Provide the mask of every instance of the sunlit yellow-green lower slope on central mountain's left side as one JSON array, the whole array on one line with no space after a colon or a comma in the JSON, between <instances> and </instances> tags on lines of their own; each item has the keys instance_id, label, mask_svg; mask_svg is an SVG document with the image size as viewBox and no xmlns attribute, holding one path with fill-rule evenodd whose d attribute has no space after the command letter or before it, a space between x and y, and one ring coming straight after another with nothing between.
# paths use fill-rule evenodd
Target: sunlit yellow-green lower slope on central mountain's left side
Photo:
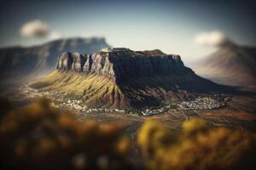
<instances>
[{"instance_id":1,"label":"sunlit yellow-green lower slope on central mountain's left side","mask_svg":"<svg viewBox=\"0 0 256 170\"><path fill-rule=\"evenodd\" d=\"M61 93L63 98L82 99L89 107L129 107L125 95L108 77L80 74L73 71L54 71L49 76L32 82L30 87L49 93Z\"/></svg>"}]
</instances>

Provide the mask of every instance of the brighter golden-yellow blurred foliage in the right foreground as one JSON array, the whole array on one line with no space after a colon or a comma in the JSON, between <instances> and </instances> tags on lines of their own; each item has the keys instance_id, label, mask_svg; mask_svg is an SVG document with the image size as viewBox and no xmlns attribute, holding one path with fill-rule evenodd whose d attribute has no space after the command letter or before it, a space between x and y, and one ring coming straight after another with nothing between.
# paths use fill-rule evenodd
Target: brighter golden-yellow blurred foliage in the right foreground
<instances>
[{"instance_id":1,"label":"brighter golden-yellow blurred foliage in the right foreground","mask_svg":"<svg viewBox=\"0 0 256 170\"><path fill-rule=\"evenodd\" d=\"M175 135L160 122L143 124L137 143L148 169L254 169L255 133L210 129L202 119L183 122L182 127L182 133Z\"/></svg>"}]
</instances>

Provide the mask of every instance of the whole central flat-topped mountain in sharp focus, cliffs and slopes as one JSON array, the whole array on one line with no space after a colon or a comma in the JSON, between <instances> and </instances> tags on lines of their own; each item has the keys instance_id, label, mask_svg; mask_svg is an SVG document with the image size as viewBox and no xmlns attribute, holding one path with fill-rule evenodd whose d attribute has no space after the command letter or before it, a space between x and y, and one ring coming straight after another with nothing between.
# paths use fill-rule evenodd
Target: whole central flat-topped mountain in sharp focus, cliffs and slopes
<instances>
[{"instance_id":1,"label":"whole central flat-topped mountain in sharp focus, cliffs and slopes","mask_svg":"<svg viewBox=\"0 0 256 170\"><path fill-rule=\"evenodd\" d=\"M143 108L165 99L192 99L195 94L228 89L195 75L179 55L129 48L103 48L95 54L65 52L56 71L31 87L81 99L89 107L113 108Z\"/></svg>"}]
</instances>

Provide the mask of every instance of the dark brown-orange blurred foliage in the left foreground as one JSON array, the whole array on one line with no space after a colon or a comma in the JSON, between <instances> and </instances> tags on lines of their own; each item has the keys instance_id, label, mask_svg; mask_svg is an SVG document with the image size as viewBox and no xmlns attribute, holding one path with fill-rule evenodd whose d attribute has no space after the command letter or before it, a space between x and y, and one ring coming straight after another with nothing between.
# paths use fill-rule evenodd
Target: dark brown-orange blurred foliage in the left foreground
<instances>
[{"instance_id":1,"label":"dark brown-orange blurred foliage in the left foreground","mask_svg":"<svg viewBox=\"0 0 256 170\"><path fill-rule=\"evenodd\" d=\"M108 169L133 169L124 126L79 122L72 115L51 107L47 99L9 111L0 120L1 161L17 169L99 169L103 156ZM76 157L79 161L73 161Z\"/></svg>"}]
</instances>

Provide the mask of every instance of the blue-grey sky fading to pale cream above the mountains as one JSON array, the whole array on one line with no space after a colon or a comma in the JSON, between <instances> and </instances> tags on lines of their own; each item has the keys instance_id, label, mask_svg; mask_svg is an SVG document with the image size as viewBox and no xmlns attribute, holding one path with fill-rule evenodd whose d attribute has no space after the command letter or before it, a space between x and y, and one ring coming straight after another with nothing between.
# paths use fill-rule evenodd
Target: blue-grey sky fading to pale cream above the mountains
<instances>
[{"instance_id":1,"label":"blue-grey sky fading to pale cream above the mountains","mask_svg":"<svg viewBox=\"0 0 256 170\"><path fill-rule=\"evenodd\" d=\"M48 37L22 37L20 28L44 22L58 37L106 37L113 47L160 48L185 61L216 48L195 43L204 31L221 31L232 41L256 46L254 8L249 1L14 1L1 0L0 47L31 46Z\"/></svg>"}]
</instances>

